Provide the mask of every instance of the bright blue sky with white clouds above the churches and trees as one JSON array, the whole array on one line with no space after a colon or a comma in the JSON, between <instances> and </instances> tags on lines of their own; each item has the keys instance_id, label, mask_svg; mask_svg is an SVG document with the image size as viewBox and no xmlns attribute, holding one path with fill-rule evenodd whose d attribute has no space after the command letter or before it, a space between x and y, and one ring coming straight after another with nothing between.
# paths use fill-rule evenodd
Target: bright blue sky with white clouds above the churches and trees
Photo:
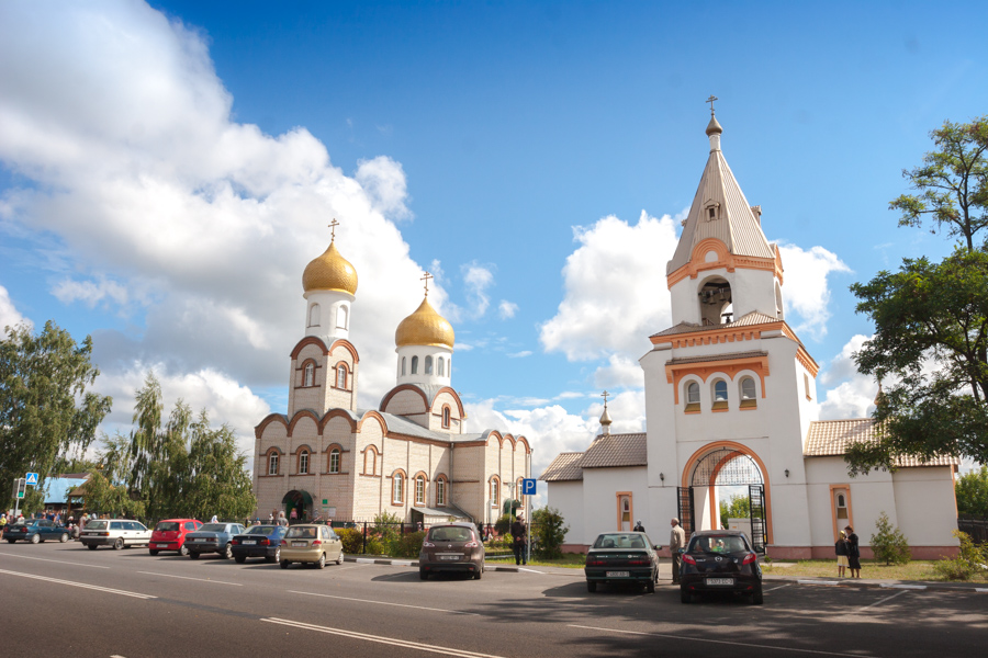
<instances>
[{"instance_id":1,"label":"bright blue sky with white clouds above the churches and trees","mask_svg":"<svg viewBox=\"0 0 988 658\"><path fill-rule=\"evenodd\" d=\"M821 413L860 417L847 286L942 236L888 202L944 120L988 112L977 2L0 5L0 325L92 334L126 428L154 367L252 427L283 411L301 273L358 270L361 404L393 385L418 276L457 331L471 430L582 450L599 393L644 428L637 360L665 261L723 151L783 247Z\"/></svg>"}]
</instances>

